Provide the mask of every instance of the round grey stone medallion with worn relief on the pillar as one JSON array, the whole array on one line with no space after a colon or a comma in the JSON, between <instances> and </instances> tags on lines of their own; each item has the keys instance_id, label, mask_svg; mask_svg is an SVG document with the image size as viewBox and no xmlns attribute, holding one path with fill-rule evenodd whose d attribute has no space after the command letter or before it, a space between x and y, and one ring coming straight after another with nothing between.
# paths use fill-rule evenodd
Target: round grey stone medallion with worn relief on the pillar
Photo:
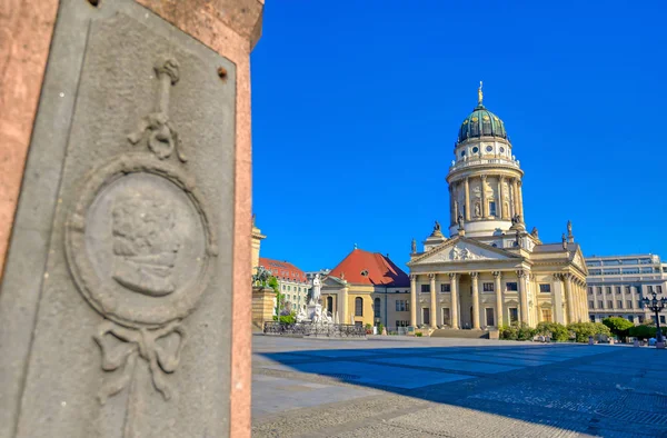
<instances>
[{"instance_id":1,"label":"round grey stone medallion with worn relief on the pillar","mask_svg":"<svg viewBox=\"0 0 667 438\"><path fill-rule=\"evenodd\" d=\"M83 297L133 328L163 326L195 309L215 241L193 182L146 155L91 172L66 229L68 262Z\"/></svg>"}]
</instances>

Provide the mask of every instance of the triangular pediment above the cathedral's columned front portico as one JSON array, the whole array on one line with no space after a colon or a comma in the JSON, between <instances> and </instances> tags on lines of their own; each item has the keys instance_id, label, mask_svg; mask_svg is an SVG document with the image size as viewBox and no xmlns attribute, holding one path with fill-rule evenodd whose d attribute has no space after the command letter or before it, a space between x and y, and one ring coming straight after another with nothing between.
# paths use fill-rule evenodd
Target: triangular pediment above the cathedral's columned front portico
<instances>
[{"instance_id":1,"label":"triangular pediment above the cathedral's columned front portico","mask_svg":"<svg viewBox=\"0 0 667 438\"><path fill-rule=\"evenodd\" d=\"M456 237L416 257L408 266L430 263L461 263L479 260L517 260L520 256L475 239Z\"/></svg>"}]
</instances>

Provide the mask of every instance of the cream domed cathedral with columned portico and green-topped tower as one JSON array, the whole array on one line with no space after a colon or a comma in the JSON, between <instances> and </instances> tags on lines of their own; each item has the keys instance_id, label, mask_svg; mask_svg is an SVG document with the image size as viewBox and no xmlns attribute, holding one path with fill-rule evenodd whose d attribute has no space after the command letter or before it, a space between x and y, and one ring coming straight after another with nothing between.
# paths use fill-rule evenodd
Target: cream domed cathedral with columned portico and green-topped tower
<instances>
[{"instance_id":1,"label":"cream domed cathedral with columned portico and green-topped tower","mask_svg":"<svg viewBox=\"0 0 667 438\"><path fill-rule=\"evenodd\" d=\"M542 243L537 228L526 231L524 171L505 123L484 106L481 82L454 155L449 238L436 221L422 251L412 240L410 325L482 330L587 321L588 271L571 223L558 243Z\"/></svg>"}]
</instances>

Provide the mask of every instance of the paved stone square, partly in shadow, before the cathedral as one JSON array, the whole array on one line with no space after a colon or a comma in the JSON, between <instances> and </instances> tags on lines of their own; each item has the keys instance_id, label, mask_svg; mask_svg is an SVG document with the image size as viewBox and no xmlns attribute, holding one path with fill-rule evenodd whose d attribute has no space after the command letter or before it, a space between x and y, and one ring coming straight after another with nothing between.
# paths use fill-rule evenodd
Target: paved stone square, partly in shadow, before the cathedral
<instances>
[{"instance_id":1,"label":"paved stone square, partly in shadow, before the cathedral","mask_svg":"<svg viewBox=\"0 0 667 438\"><path fill-rule=\"evenodd\" d=\"M666 350L253 337L257 437L667 437Z\"/></svg>"}]
</instances>

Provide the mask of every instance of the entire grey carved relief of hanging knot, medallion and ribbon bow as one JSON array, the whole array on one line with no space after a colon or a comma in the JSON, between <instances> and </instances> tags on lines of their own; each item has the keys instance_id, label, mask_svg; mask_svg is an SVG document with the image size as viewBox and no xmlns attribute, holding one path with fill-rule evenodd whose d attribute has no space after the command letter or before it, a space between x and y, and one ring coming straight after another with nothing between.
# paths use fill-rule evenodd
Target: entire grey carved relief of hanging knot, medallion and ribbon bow
<instances>
[{"instance_id":1,"label":"entire grey carved relief of hanging knot, medallion and ribbon bow","mask_svg":"<svg viewBox=\"0 0 667 438\"><path fill-rule=\"evenodd\" d=\"M136 388L143 387L135 384L143 375L141 362L153 388L166 400L172 397L166 376L177 370L187 340L181 321L195 310L218 253L206 202L169 122L178 62L160 59L155 70L157 111L128 137L133 145L146 140L147 150L91 171L66 226L70 272L104 318L93 335L107 374L99 400L129 386L128 418L135 418ZM172 155L177 159L169 161Z\"/></svg>"}]
</instances>

